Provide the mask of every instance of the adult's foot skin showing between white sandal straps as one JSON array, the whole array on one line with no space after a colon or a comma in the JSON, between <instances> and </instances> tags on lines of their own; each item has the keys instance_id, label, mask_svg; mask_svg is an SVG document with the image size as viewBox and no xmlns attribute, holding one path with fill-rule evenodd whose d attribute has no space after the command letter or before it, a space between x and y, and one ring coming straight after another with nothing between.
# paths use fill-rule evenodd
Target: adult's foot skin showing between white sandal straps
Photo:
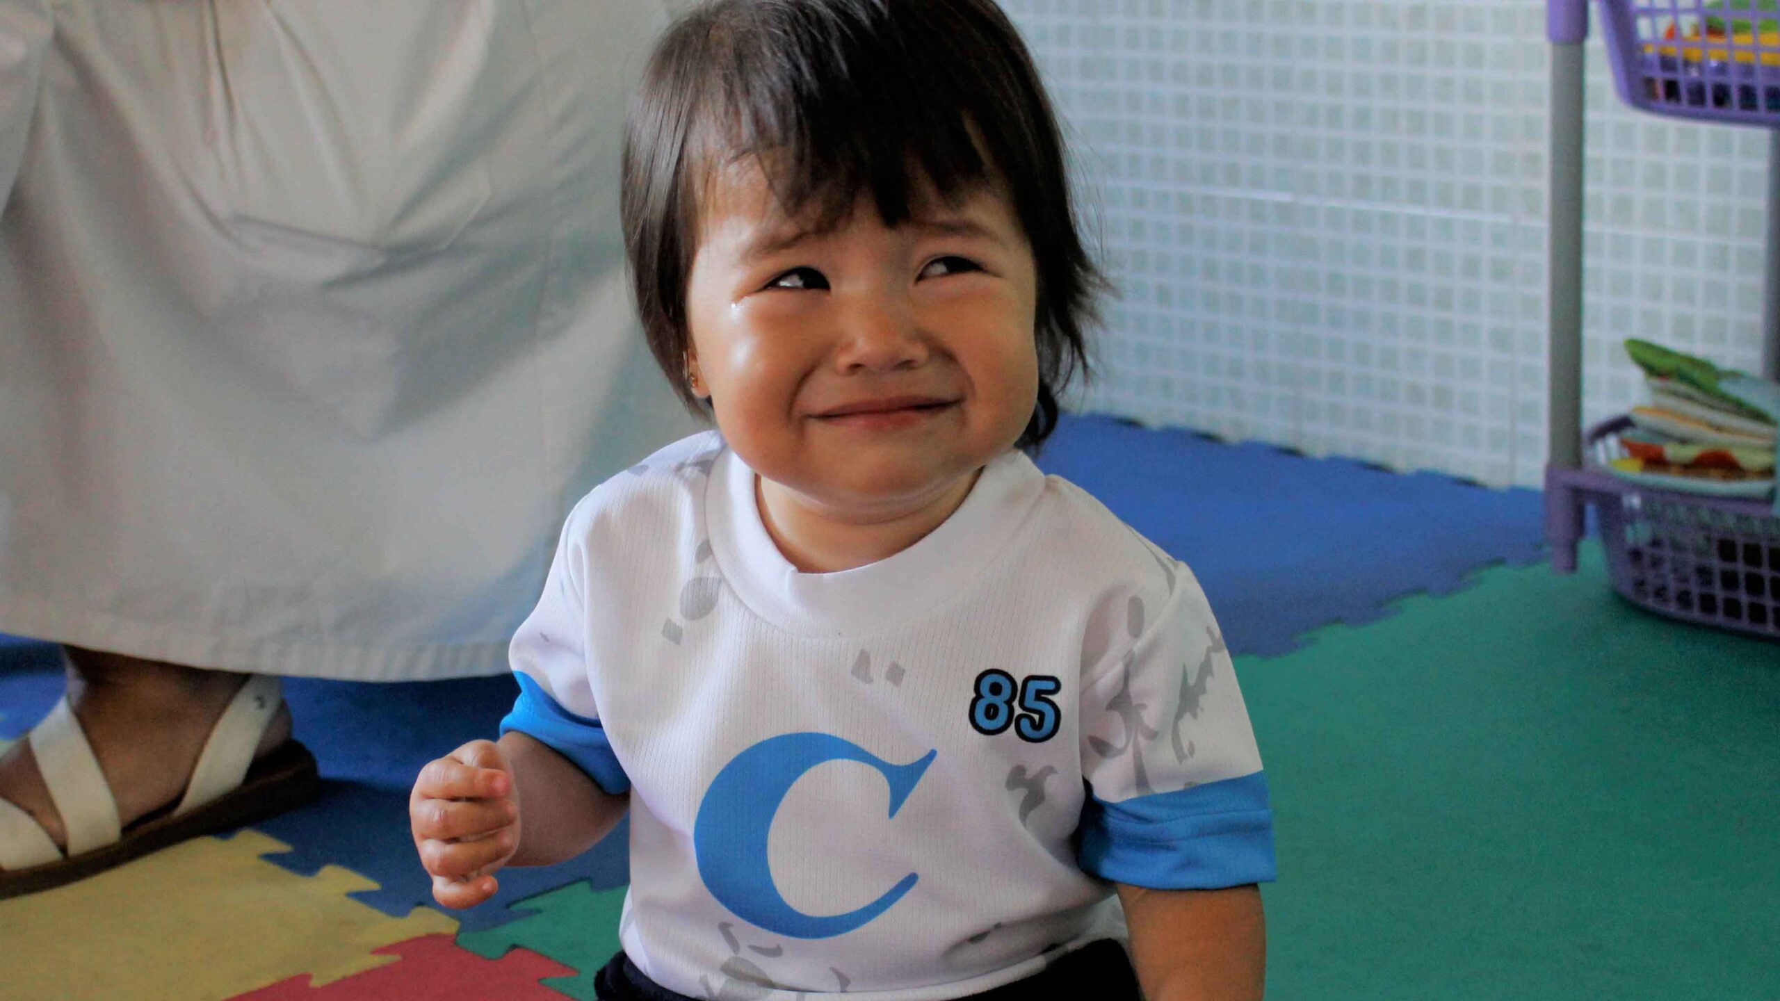
<instances>
[{"instance_id":1,"label":"adult's foot skin showing between white sandal straps","mask_svg":"<svg viewBox=\"0 0 1780 1001\"><path fill-rule=\"evenodd\" d=\"M246 682L242 673L68 647L68 702L117 800L123 826L185 794L210 728ZM288 737L290 707L281 705L255 757ZM0 757L0 800L32 814L66 850L62 818L28 741L18 741Z\"/></svg>"}]
</instances>

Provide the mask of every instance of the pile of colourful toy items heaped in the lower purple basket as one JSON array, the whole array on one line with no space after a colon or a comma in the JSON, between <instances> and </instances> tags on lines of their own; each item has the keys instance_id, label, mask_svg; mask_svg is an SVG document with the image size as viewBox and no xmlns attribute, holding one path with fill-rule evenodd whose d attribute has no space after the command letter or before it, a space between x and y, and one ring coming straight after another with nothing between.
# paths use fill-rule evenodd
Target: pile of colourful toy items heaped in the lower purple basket
<instances>
[{"instance_id":1,"label":"pile of colourful toy items heaped in the lower purple basket","mask_svg":"<svg viewBox=\"0 0 1780 1001\"><path fill-rule=\"evenodd\" d=\"M1607 470L1663 490L1768 497L1775 490L1780 387L1646 340L1627 340L1645 370L1648 406L1627 415L1622 456Z\"/></svg>"}]
</instances>

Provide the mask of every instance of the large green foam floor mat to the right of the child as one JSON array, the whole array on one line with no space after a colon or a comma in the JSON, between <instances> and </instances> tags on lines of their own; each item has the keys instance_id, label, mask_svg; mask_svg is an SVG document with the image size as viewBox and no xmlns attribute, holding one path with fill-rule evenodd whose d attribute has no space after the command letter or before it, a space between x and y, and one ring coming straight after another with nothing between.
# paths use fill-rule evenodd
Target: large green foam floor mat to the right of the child
<instances>
[{"instance_id":1,"label":"large green foam floor mat to the right of the child","mask_svg":"<svg viewBox=\"0 0 1780 1001\"><path fill-rule=\"evenodd\" d=\"M1780 997L1780 645L1497 568L1237 671L1269 997Z\"/></svg>"}]
</instances>

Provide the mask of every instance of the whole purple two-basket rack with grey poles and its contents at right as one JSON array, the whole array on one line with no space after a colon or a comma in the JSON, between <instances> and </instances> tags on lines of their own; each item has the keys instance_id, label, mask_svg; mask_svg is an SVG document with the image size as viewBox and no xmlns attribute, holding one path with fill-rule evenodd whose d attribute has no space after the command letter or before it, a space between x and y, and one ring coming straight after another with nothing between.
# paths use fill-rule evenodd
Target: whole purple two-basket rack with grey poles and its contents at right
<instances>
[{"instance_id":1,"label":"whole purple two-basket rack with grey poles and its contents at right","mask_svg":"<svg viewBox=\"0 0 1780 1001\"><path fill-rule=\"evenodd\" d=\"M1597 0L1620 96L1670 118L1780 130L1780 0ZM1595 509L1607 577L1632 604L1780 639L1780 385L1629 342L1652 403L1581 433L1582 45L1588 0L1547 0L1552 43L1550 465L1556 572ZM1771 139L1780 169L1780 132ZM1780 372L1780 175L1769 189L1764 372ZM1581 449L1581 451L1579 451Z\"/></svg>"}]
</instances>

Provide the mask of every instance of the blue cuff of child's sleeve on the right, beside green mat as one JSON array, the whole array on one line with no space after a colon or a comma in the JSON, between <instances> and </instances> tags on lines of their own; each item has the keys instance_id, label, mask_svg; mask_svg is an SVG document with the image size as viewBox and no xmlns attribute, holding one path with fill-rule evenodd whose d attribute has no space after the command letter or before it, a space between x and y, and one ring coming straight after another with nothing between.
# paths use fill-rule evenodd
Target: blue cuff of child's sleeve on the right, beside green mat
<instances>
[{"instance_id":1,"label":"blue cuff of child's sleeve on the right, beside green mat","mask_svg":"<svg viewBox=\"0 0 1780 1001\"><path fill-rule=\"evenodd\" d=\"M1120 803L1089 796L1079 860L1104 880L1157 891L1271 883L1267 777L1257 771Z\"/></svg>"}]
</instances>

